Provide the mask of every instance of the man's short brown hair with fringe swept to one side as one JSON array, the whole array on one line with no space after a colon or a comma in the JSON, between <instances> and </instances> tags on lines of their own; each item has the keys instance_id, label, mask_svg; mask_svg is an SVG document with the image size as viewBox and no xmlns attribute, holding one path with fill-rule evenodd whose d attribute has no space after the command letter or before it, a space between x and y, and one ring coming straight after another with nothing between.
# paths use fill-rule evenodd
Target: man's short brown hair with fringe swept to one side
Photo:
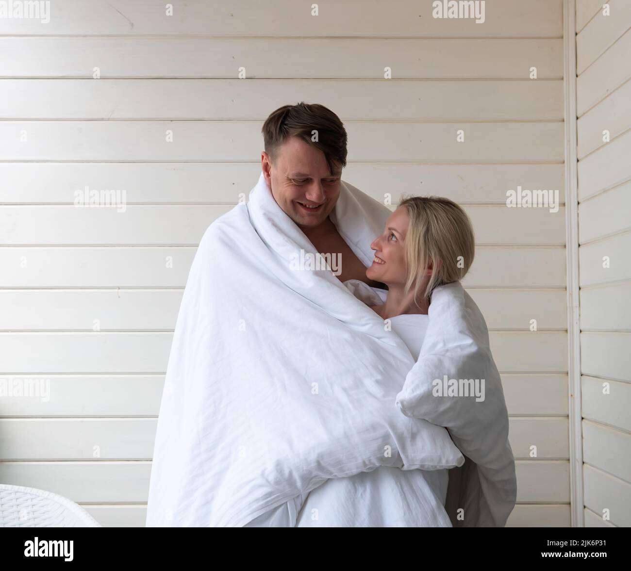
<instances>
[{"instance_id":1,"label":"man's short brown hair with fringe swept to one side","mask_svg":"<svg viewBox=\"0 0 631 571\"><path fill-rule=\"evenodd\" d=\"M317 141L314 141L317 131ZM338 115L319 103L283 105L269 115L261 129L265 152L274 160L276 151L290 137L298 137L324 153L329 172L346 167L346 129Z\"/></svg>"}]
</instances>

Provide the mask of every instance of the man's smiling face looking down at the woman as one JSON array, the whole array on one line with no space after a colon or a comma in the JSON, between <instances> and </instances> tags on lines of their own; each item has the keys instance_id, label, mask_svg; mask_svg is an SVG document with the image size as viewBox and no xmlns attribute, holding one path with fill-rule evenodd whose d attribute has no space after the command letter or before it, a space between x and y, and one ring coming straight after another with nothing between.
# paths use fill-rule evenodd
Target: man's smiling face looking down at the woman
<instances>
[{"instance_id":1,"label":"man's smiling face looking down at the woman","mask_svg":"<svg viewBox=\"0 0 631 571\"><path fill-rule=\"evenodd\" d=\"M331 174L324 153L296 137L287 139L276 154L272 164L263 152L261 165L274 200L299 227L316 227L338 201L341 168Z\"/></svg>"}]
</instances>

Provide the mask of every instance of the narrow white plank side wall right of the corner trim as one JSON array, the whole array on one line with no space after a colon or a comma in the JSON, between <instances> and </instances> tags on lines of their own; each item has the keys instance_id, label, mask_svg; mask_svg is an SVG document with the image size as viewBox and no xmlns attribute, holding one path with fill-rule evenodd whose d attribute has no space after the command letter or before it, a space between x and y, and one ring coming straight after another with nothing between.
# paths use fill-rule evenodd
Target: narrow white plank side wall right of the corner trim
<instances>
[{"instance_id":1,"label":"narrow white plank side wall right of the corner trim","mask_svg":"<svg viewBox=\"0 0 631 571\"><path fill-rule=\"evenodd\" d=\"M631 526L631 3L608 7L577 0L587 527Z\"/></svg>"}]
</instances>

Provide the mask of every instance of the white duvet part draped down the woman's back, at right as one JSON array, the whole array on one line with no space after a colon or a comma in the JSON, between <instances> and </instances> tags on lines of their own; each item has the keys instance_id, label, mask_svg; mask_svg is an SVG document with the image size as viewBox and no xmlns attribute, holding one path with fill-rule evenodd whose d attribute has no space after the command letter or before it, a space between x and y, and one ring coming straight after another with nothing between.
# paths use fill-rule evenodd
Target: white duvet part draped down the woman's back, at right
<instances>
[{"instance_id":1,"label":"white duvet part draped down the woman's back, at right","mask_svg":"<svg viewBox=\"0 0 631 571\"><path fill-rule=\"evenodd\" d=\"M502 527L514 508L517 482L487 324L460 282L435 288L430 301L427 334L396 404L406 416L447 428L473 462L463 468L454 499L463 509L457 526Z\"/></svg>"}]
</instances>

